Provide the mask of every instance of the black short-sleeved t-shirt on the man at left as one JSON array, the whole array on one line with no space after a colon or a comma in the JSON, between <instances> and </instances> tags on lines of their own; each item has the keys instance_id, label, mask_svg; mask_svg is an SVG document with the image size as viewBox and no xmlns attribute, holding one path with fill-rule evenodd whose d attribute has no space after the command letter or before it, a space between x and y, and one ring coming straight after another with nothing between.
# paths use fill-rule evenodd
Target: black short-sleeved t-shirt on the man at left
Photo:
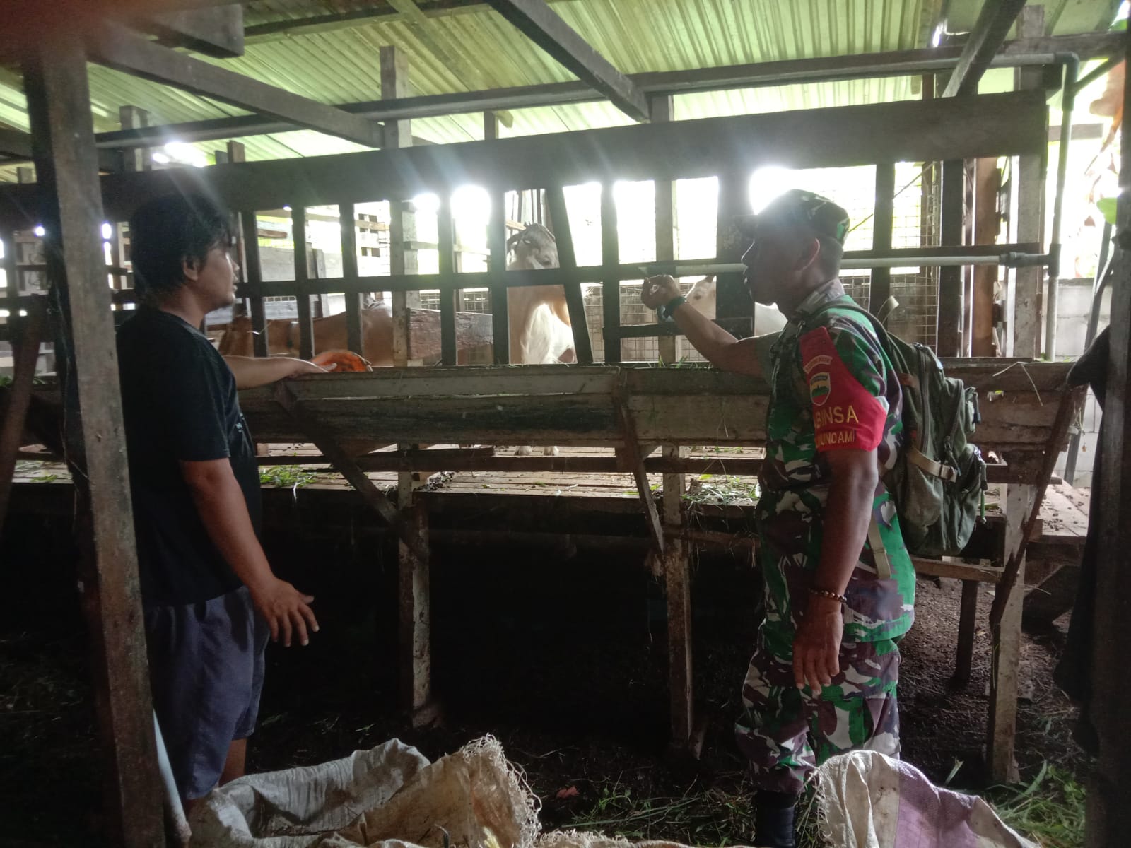
<instances>
[{"instance_id":1,"label":"black short-sleeved t-shirt on the man at left","mask_svg":"<svg viewBox=\"0 0 1131 848\"><path fill-rule=\"evenodd\" d=\"M179 460L228 458L259 533L259 467L235 378L208 339L176 315L143 308L118 330L141 595L193 604L240 586L205 529Z\"/></svg>"}]
</instances>

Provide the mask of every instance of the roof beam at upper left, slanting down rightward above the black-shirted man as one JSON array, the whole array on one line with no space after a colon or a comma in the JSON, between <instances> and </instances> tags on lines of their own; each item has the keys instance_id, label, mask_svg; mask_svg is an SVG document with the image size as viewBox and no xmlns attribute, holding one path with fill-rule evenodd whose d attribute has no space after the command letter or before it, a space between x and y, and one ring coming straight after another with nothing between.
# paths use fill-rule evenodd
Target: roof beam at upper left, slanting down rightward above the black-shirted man
<instances>
[{"instance_id":1,"label":"roof beam at upper left, slanting down rightward above the black-shirted man","mask_svg":"<svg viewBox=\"0 0 1131 848\"><path fill-rule=\"evenodd\" d=\"M143 79L230 103L287 123L318 130L366 147L380 147L379 123L335 106L301 97L258 79L191 59L154 44L118 24L103 24L87 40L90 61Z\"/></svg>"}]
</instances>

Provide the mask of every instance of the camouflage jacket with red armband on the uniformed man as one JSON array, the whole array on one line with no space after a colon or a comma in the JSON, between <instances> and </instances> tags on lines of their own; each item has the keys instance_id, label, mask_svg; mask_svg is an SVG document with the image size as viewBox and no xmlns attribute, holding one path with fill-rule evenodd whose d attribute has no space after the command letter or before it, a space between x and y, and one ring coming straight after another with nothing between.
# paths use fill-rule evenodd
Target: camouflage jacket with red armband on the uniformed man
<instances>
[{"instance_id":1,"label":"camouflage jacket with red armband on the uniformed man","mask_svg":"<svg viewBox=\"0 0 1131 848\"><path fill-rule=\"evenodd\" d=\"M768 643L783 650L797 624L791 598L802 598L804 608L820 561L830 485L824 453L874 448L883 474L896 460L903 431L903 392L872 328L858 314L835 308L806 321L818 306L840 300L851 302L839 280L814 292L762 357L771 389L757 512L766 574L763 631ZM865 543L845 592L846 640L903 635L915 615L915 571L882 483L872 516L892 573L879 578Z\"/></svg>"}]
</instances>

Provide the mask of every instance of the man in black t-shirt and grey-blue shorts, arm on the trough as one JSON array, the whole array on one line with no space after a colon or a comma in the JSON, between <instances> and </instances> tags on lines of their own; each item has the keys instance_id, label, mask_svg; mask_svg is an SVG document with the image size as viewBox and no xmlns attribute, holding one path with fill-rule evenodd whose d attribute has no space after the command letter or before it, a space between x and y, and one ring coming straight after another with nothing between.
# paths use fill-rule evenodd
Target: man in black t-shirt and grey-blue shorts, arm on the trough
<instances>
[{"instance_id":1,"label":"man in black t-shirt and grey-blue shorts, arm on the trough","mask_svg":"<svg viewBox=\"0 0 1131 848\"><path fill-rule=\"evenodd\" d=\"M187 803L240 777L267 638L307 644L313 598L259 544L259 469L238 388L322 369L225 361L197 328L235 301L226 213L162 197L130 219L137 313L118 332L154 709Z\"/></svg>"}]
</instances>

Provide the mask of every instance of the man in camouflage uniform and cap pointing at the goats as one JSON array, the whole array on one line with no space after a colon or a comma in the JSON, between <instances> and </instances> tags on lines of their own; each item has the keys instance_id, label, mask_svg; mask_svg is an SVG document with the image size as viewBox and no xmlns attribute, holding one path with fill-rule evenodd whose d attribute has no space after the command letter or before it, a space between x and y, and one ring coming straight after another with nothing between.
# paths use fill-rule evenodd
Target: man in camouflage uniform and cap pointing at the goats
<instances>
[{"instance_id":1,"label":"man in camouflage uniform and cap pointing at the goats","mask_svg":"<svg viewBox=\"0 0 1131 848\"><path fill-rule=\"evenodd\" d=\"M758 846L793 846L806 776L852 749L899 753L897 643L914 618L915 572L891 495L903 395L867 319L838 279L848 216L788 191L739 222L759 303L789 319L735 340L682 302L671 277L644 301L718 367L770 383L757 509L766 620L736 725L754 785ZM873 552L874 548L874 552Z\"/></svg>"}]
</instances>

